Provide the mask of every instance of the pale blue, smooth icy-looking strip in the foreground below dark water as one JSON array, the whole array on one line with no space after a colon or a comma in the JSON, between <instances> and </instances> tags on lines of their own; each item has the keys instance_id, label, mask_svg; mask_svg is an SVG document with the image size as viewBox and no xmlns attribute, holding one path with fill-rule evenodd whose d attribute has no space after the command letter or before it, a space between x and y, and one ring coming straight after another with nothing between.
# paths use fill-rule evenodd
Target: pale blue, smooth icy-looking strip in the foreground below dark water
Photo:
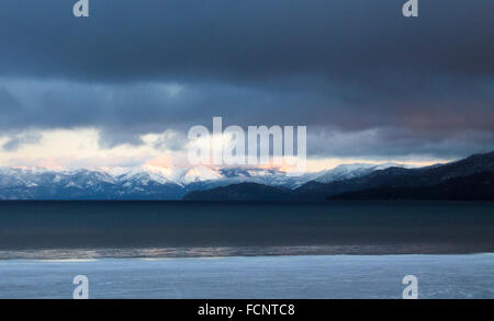
<instances>
[{"instance_id":1,"label":"pale blue, smooth icy-looking strip in the foreground below dark water","mask_svg":"<svg viewBox=\"0 0 494 321\"><path fill-rule=\"evenodd\" d=\"M494 298L494 254L0 261L0 298Z\"/></svg>"}]
</instances>

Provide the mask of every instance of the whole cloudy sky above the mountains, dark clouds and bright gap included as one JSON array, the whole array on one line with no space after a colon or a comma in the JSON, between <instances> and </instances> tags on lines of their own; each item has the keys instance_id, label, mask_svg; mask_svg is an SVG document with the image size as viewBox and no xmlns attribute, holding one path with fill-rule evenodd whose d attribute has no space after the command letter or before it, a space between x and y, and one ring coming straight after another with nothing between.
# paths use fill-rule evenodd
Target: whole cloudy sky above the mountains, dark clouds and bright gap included
<instances>
[{"instance_id":1,"label":"whole cloudy sky above the mountains, dark clouds and bright gap included","mask_svg":"<svg viewBox=\"0 0 494 321\"><path fill-rule=\"evenodd\" d=\"M75 2L2 0L0 165L179 159L213 116L305 125L313 160L494 149L494 1Z\"/></svg>"}]
</instances>

